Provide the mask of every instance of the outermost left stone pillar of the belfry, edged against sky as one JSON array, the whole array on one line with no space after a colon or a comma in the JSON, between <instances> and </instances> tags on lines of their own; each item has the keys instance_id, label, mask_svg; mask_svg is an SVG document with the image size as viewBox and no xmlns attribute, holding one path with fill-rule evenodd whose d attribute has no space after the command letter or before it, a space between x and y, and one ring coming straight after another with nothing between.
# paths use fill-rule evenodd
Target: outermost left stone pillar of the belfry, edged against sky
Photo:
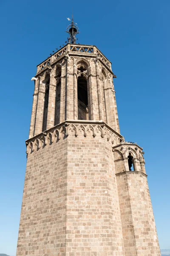
<instances>
[{"instance_id":1,"label":"outermost left stone pillar of the belfry, edged against sky","mask_svg":"<svg viewBox=\"0 0 170 256\"><path fill-rule=\"evenodd\" d=\"M39 87L40 80L37 79L34 83L35 83L35 88L34 88L34 95L33 95L31 123L30 123L30 129L29 129L29 138L34 136L35 117L36 117L37 98L38 98L38 87Z\"/></svg>"}]
</instances>

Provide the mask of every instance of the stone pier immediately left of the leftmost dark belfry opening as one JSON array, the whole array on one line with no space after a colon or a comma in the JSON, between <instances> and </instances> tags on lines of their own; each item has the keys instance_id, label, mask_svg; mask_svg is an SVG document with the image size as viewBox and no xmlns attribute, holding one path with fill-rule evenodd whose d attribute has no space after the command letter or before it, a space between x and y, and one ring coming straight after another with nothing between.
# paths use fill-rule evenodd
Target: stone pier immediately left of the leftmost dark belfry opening
<instances>
[{"instance_id":1,"label":"stone pier immediately left of the leftmost dark belfry opening","mask_svg":"<svg viewBox=\"0 0 170 256\"><path fill-rule=\"evenodd\" d=\"M37 98L37 111L35 120L35 132L34 136L42 132L43 112L44 112L44 96L45 96L45 84L40 81L38 98Z\"/></svg>"}]
</instances>

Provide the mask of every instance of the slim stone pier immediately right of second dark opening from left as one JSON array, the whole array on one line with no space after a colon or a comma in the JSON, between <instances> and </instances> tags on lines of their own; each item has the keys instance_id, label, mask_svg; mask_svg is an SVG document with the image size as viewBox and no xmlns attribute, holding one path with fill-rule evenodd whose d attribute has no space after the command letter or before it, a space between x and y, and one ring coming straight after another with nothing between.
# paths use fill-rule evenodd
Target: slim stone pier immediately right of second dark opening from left
<instances>
[{"instance_id":1,"label":"slim stone pier immediately right of second dark opening from left","mask_svg":"<svg viewBox=\"0 0 170 256\"><path fill-rule=\"evenodd\" d=\"M65 121L65 66L66 63L62 63L61 67L61 92L60 92L60 114L59 122Z\"/></svg>"}]
</instances>

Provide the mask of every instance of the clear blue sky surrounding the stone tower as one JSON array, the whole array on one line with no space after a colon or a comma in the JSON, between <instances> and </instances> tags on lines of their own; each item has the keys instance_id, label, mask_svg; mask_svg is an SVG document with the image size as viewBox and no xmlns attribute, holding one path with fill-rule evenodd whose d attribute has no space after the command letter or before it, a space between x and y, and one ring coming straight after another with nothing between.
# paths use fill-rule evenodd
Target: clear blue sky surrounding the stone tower
<instances>
[{"instance_id":1,"label":"clear blue sky surrounding the stone tower","mask_svg":"<svg viewBox=\"0 0 170 256\"><path fill-rule=\"evenodd\" d=\"M144 148L160 247L169 248L170 0L0 0L0 253L16 253L31 77L66 41L72 6L79 43L112 62L121 134Z\"/></svg>"}]
</instances>

